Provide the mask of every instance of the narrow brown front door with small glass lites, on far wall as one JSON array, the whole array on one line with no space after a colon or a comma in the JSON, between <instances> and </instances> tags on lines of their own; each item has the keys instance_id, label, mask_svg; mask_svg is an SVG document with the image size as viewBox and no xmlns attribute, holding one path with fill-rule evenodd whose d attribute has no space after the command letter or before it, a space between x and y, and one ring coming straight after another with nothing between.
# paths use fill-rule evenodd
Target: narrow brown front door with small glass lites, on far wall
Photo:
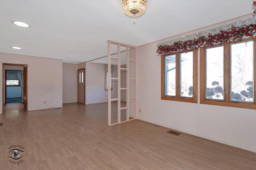
<instances>
[{"instance_id":1,"label":"narrow brown front door with small glass lites, on far wall","mask_svg":"<svg viewBox=\"0 0 256 170\"><path fill-rule=\"evenodd\" d=\"M78 69L78 92L77 92L77 102L80 104L85 104L85 68Z\"/></svg>"}]
</instances>

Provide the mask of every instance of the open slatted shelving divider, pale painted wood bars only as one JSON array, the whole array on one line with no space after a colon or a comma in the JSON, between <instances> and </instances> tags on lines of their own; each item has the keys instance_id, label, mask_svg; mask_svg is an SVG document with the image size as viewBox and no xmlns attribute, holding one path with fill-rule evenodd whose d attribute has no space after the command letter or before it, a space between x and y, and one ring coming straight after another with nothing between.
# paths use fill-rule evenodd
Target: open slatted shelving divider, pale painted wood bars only
<instances>
[{"instance_id":1,"label":"open slatted shelving divider, pale painted wood bars only","mask_svg":"<svg viewBox=\"0 0 256 170\"><path fill-rule=\"evenodd\" d=\"M111 72L108 71L108 87L111 87L111 80L117 80L117 98L111 99L111 89L108 88L108 125L117 125L120 123L124 123L127 121L131 121L134 119L137 119L137 47L132 46L132 45L127 45L123 43L118 43L115 41L110 41L108 40L108 70L111 70L111 59L116 59L117 60L117 78L111 77ZM112 57L111 56L111 44L117 45L117 56L118 57ZM126 68L121 68L121 51L120 47L126 47ZM129 59L130 58L130 49L134 49L134 59ZM135 68L131 68L129 62L134 62L132 66ZM135 77L130 78L130 73L129 70L134 69L135 70ZM126 70L126 88L121 88L121 70ZM130 80L135 81L135 87L134 87L134 94L135 96L129 96L130 95ZM126 107L121 107L121 90L126 90ZM133 102L133 107L134 107L134 117L130 119L130 100L135 100ZM112 101L117 101L117 123L111 123L111 102ZM121 110L126 109L126 120L121 121Z\"/></svg>"}]
</instances>

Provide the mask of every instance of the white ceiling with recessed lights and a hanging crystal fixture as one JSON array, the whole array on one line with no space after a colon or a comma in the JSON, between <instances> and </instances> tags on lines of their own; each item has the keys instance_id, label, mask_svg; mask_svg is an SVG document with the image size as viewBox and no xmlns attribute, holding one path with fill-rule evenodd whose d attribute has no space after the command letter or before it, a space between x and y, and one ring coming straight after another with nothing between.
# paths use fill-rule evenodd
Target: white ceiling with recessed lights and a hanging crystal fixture
<instances>
[{"instance_id":1,"label":"white ceiling with recessed lights and a hanging crystal fixture","mask_svg":"<svg viewBox=\"0 0 256 170\"><path fill-rule=\"evenodd\" d=\"M148 0L134 25L122 11L122 0L0 0L0 52L82 63L106 56L107 40L144 45L250 14L252 2Z\"/></svg>"}]
</instances>

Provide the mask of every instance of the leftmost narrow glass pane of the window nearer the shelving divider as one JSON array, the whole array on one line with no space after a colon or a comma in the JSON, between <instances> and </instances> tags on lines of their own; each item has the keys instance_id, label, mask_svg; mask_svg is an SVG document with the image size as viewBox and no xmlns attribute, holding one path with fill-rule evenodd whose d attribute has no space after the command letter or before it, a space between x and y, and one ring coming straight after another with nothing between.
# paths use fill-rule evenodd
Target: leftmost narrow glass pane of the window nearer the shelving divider
<instances>
[{"instance_id":1,"label":"leftmost narrow glass pane of the window nearer the shelving divider","mask_svg":"<svg viewBox=\"0 0 256 170\"><path fill-rule=\"evenodd\" d=\"M176 55L165 57L165 95L176 96Z\"/></svg>"}]
</instances>

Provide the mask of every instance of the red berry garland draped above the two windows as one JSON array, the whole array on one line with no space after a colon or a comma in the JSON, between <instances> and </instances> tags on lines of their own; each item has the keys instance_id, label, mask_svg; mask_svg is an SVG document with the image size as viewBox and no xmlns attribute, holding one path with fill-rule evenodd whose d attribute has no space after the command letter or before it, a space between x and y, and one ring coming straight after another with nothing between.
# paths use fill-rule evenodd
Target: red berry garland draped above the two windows
<instances>
[{"instance_id":1,"label":"red berry garland draped above the two windows","mask_svg":"<svg viewBox=\"0 0 256 170\"><path fill-rule=\"evenodd\" d=\"M255 2L256 3L256 2ZM225 42L241 41L243 37L253 37L256 33L256 24L242 25L240 27L232 26L226 31L220 31L216 34L209 33L207 37L200 36L198 39L188 41L177 41L173 45L158 45L156 53L168 54L176 51L185 51L198 49L202 46L214 47L214 45Z\"/></svg>"}]
</instances>

